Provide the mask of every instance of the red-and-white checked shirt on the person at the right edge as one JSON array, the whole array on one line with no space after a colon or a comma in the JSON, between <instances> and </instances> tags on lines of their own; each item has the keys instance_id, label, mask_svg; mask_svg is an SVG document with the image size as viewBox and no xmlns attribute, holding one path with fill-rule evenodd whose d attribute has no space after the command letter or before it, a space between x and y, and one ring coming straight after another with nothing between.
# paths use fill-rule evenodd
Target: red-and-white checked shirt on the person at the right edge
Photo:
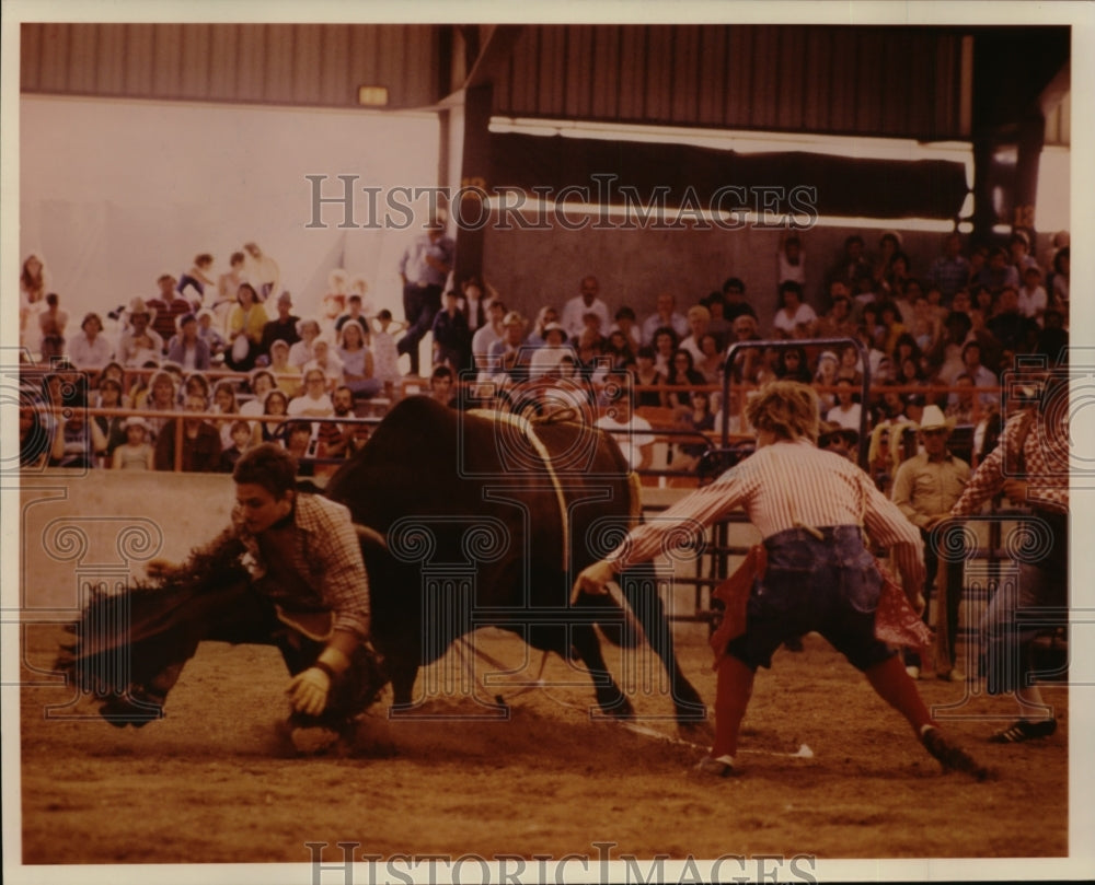
<instances>
[{"instance_id":1,"label":"red-and-white checked shirt on the person at the right edge","mask_svg":"<svg viewBox=\"0 0 1095 885\"><path fill-rule=\"evenodd\" d=\"M1068 409L1057 409L1057 415L1045 412L1016 415L1004 426L1000 444L973 474L961 498L950 509L952 516L977 513L981 504L1004 487L1006 479L1027 481L1027 503L1036 510L1053 513L1069 512L1069 427ZM1023 442L1022 465L1018 453L1023 426L1030 420ZM1047 423L1053 423L1047 428ZM1021 471L1021 466L1023 469Z\"/></svg>"}]
</instances>

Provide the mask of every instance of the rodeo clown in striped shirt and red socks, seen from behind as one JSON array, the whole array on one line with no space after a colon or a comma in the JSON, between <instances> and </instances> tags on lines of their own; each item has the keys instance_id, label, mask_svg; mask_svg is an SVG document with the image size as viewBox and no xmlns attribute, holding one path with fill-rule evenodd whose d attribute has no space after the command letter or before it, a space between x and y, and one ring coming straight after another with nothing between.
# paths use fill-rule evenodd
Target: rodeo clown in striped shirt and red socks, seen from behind
<instances>
[{"instance_id":1,"label":"rodeo clown in striped shirt and red socks, seen from behind","mask_svg":"<svg viewBox=\"0 0 1095 885\"><path fill-rule=\"evenodd\" d=\"M942 733L901 659L875 637L883 577L862 528L889 547L918 612L924 604L919 529L856 465L815 446L818 398L812 388L773 382L746 412L757 431L757 452L661 519L633 528L615 550L578 575L575 594L603 593L618 572L656 556L670 533L692 534L741 506L763 536L766 571L749 590L744 632L729 640L719 660L715 744L696 772L738 772L738 734L757 667L771 666L772 653L785 640L816 630L909 721L945 770L984 779L989 771Z\"/></svg>"}]
</instances>

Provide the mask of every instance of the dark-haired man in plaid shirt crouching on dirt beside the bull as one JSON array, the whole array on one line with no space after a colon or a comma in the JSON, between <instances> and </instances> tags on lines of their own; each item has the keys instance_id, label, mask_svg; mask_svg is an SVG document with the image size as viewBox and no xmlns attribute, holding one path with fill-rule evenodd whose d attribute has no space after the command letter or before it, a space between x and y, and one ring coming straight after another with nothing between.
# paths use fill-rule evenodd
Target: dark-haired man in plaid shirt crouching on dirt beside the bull
<instances>
[{"instance_id":1,"label":"dark-haired man in plaid shirt crouching on dirt beside the bull","mask_svg":"<svg viewBox=\"0 0 1095 885\"><path fill-rule=\"evenodd\" d=\"M349 511L298 493L296 474L281 447L250 450L232 474L232 525L181 566L149 562L160 586L132 596L132 682L102 708L107 720L141 725L162 715L198 643L219 640L280 650L292 674L288 727L299 752L349 736L382 683L369 642L368 577ZM238 580L226 580L233 573ZM165 619L183 629L164 630Z\"/></svg>"}]
</instances>

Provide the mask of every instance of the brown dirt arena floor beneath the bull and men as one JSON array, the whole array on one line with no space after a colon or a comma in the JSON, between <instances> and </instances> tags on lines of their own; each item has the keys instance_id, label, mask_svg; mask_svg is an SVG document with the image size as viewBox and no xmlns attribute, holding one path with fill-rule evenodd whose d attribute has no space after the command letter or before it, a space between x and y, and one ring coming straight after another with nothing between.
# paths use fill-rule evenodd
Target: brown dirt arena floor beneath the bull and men
<instances>
[{"instance_id":1,"label":"brown dirt arena floor beneath the bull and men","mask_svg":"<svg viewBox=\"0 0 1095 885\"><path fill-rule=\"evenodd\" d=\"M920 683L930 703L959 717L953 733L999 770L978 784L943 775L865 680L810 636L803 653L781 650L758 678L739 757L746 773L696 782L685 772L699 748L592 721L586 677L557 657L543 671L545 687L476 688L486 702L498 695L508 704L508 720L489 721L469 719L493 711L446 685L468 662L476 677L489 667L450 652L419 677L419 687L427 678L436 686L422 698L423 718L390 722L378 709L350 754L297 758L278 732L287 678L272 649L203 645L164 720L117 730L87 699L48 684L64 636L57 625L24 629L23 677L37 683L22 690L26 864L304 863L306 843L334 852L339 841L359 843L357 858L596 858L597 842L613 843L614 858L1069 852L1063 688L1047 692L1061 726L1053 737L995 746L984 738L1012 713L1008 701L964 700L964 686ZM687 625L679 637L684 671L710 702L705 628ZM482 630L475 642L517 672L503 678L538 675L540 653L516 638ZM642 656L607 651L618 675L629 655ZM636 669L637 711L661 718L642 724L671 736L665 695L644 688L632 662ZM792 757L803 744L812 757Z\"/></svg>"}]
</instances>

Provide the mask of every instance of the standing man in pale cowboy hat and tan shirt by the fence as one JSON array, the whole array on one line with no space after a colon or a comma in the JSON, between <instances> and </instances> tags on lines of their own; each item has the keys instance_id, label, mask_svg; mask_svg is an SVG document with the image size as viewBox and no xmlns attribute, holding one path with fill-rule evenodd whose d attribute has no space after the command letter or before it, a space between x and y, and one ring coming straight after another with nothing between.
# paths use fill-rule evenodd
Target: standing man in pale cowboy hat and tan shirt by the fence
<instances>
[{"instance_id":1,"label":"standing man in pale cowboy hat and tan shirt by the fence","mask_svg":"<svg viewBox=\"0 0 1095 885\"><path fill-rule=\"evenodd\" d=\"M932 598L932 587L940 570L938 543L931 538L932 529L947 519L950 508L961 497L969 481L969 465L947 451L947 440L954 429L954 419L946 418L938 406L932 404L924 407L920 419L919 438L923 451L913 455L897 468L894 475L894 488L890 496L894 503L908 516L909 521L920 528L924 539L924 622L927 621L927 610ZM950 545L947 545L948 549ZM941 679L963 682L965 675L955 668L954 638L958 630L958 605L961 602L963 562L958 557L948 557L947 594L946 594L946 647L950 652L949 661L936 664L936 675ZM907 650L904 657L909 675L920 677L920 655L914 650Z\"/></svg>"}]
</instances>

